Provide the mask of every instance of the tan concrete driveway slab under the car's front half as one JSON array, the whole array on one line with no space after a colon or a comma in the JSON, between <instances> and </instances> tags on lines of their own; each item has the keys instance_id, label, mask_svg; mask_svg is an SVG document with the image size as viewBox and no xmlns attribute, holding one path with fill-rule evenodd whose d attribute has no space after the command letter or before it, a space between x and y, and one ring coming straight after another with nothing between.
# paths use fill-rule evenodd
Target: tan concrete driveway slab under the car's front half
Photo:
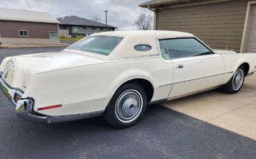
<instances>
[{"instance_id":1,"label":"tan concrete driveway slab under the car's front half","mask_svg":"<svg viewBox=\"0 0 256 159\"><path fill-rule=\"evenodd\" d=\"M161 105L256 140L256 75L235 95L215 90Z\"/></svg>"}]
</instances>

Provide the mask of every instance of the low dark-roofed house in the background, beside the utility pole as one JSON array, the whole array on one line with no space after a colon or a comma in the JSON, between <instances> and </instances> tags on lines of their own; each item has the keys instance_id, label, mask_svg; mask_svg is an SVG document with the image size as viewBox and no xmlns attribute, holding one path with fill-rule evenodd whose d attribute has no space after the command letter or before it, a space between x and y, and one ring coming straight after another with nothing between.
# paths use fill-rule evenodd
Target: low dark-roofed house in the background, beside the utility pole
<instances>
[{"instance_id":1,"label":"low dark-roofed house in the background, beside the utility pole","mask_svg":"<svg viewBox=\"0 0 256 159\"><path fill-rule=\"evenodd\" d=\"M66 37L66 34L72 35L73 37L76 35L88 36L96 32L116 30L115 26L106 26L106 24L77 16L63 17L57 20L60 21L60 37Z\"/></svg>"}]
</instances>

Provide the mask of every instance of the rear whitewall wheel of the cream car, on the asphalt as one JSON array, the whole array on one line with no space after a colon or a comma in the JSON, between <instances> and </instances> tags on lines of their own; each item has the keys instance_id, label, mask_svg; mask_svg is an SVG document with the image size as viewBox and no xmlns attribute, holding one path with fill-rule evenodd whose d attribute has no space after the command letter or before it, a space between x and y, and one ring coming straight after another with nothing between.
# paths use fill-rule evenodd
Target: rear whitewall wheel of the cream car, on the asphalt
<instances>
[{"instance_id":1,"label":"rear whitewall wheel of the cream car, on the asphalt","mask_svg":"<svg viewBox=\"0 0 256 159\"><path fill-rule=\"evenodd\" d=\"M113 127L131 127L140 120L146 107L147 95L143 87L131 82L118 88L104 112L104 118Z\"/></svg>"}]
</instances>

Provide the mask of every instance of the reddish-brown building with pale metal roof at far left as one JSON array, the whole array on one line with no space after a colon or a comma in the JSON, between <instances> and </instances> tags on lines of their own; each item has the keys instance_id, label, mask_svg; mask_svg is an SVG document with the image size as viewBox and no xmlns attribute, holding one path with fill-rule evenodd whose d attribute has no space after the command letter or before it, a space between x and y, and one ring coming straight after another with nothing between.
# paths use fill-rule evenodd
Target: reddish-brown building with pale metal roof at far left
<instances>
[{"instance_id":1,"label":"reddish-brown building with pale metal roof at far left","mask_svg":"<svg viewBox=\"0 0 256 159\"><path fill-rule=\"evenodd\" d=\"M48 12L0 9L2 44L59 44L60 22Z\"/></svg>"}]
</instances>

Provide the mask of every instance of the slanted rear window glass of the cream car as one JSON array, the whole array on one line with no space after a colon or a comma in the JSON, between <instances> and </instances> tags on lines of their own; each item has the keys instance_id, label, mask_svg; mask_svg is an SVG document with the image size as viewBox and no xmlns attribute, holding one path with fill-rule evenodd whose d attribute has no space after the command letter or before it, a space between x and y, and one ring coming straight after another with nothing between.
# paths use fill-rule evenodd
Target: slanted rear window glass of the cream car
<instances>
[{"instance_id":1,"label":"slanted rear window glass of the cream car","mask_svg":"<svg viewBox=\"0 0 256 159\"><path fill-rule=\"evenodd\" d=\"M122 37L88 37L77 44L69 46L68 49L83 50L108 56L122 41Z\"/></svg>"}]
</instances>

